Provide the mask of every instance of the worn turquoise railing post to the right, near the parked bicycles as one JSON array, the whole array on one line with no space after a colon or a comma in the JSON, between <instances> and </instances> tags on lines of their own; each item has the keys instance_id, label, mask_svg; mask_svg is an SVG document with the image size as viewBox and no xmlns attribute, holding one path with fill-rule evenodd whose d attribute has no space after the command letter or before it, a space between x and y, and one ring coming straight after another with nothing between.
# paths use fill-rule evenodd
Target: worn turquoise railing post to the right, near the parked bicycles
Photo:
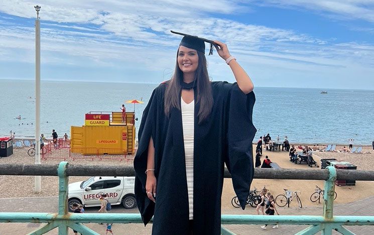
<instances>
[{"instance_id":1,"label":"worn turquoise railing post to the right, near the parked bicycles","mask_svg":"<svg viewBox=\"0 0 374 235\"><path fill-rule=\"evenodd\" d=\"M329 177L325 181L325 193L323 194L323 217L325 220L333 220L336 169L332 166L326 168L329 170Z\"/></svg>"}]
</instances>

